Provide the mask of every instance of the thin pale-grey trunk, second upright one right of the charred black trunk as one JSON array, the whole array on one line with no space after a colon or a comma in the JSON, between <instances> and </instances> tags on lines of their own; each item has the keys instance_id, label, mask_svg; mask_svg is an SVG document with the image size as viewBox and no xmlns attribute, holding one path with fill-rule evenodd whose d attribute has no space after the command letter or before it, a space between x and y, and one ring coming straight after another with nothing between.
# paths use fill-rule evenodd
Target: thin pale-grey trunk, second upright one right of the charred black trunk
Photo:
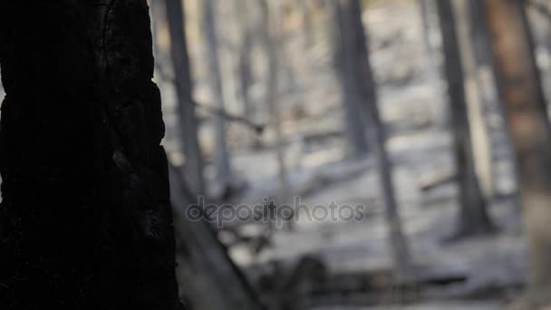
<instances>
[{"instance_id":1,"label":"thin pale-grey trunk, second upright one right of the charred black trunk","mask_svg":"<svg viewBox=\"0 0 551 310\"><path fill-rule=\"evenodd\" d=\"M224 111L225 100L218 59L215 1L217 0L203 0L203 27L208 45L208 69L210 82L212 83L213 100L216 101L218 109ZM229 185L232 179L232 171L226 145L226 121L224 117L219 114L217 114L215 118L216 150L214 154L214 165L217 180L220 182L222 189L224 189Z\"/></svg>"}]
</instances>

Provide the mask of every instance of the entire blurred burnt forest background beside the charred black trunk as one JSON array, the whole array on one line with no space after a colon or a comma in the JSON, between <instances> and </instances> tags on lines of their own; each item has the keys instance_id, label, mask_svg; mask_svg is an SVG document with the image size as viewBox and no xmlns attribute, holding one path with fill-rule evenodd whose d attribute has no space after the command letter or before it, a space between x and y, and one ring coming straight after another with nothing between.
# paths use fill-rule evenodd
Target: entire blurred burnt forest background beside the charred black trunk
<instances>
[{"instance_id":1,"label":"entire blurred burnt forest background beside the charred black trunk","mask_svg":"<svg viewBox=\"0 0 551 310\"><path fill-rule=\"evenodd\" d=\"M190 309L546 304L550 2L150 0L150 14ZM332 203L362 208L323 217Z\"/></svg>"}]
</instances>

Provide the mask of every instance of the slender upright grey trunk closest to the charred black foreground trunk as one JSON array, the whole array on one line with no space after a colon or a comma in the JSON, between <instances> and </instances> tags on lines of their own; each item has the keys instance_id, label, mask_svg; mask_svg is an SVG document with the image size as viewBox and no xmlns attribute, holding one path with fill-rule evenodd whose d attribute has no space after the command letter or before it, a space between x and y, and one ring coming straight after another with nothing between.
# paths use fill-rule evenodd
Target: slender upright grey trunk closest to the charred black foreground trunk
<instances>
[{"instance_id":1,"label":"slender upright grey trunk closest to the charred black foreground trunk","mask_svg":"<svg viewBox=\"0 0 551 310\"><path fill-rule=\"evenodd\" d=\"M180 144L185 163L184 175L189 187L196 195L205 195L203 179L203 158L198 142L198 120L192 97L192 82L189 66L188 44L186 42L185 19L182 0L165 0L169 21L170 55L176 77L174 83L178 95Z\"/></svg>"}]
</instances>

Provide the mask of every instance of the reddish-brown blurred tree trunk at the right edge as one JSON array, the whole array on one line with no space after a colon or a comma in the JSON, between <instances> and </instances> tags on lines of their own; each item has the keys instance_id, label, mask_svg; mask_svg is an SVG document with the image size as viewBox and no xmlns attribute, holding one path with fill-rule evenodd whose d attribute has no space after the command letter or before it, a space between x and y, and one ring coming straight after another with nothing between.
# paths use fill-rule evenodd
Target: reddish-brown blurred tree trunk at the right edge
<instances>
[{"instance_id":1,"label":"reddish-brown blurred tree trunk at the right edge","mask_svg":"<svg viewBox=\"0 0 551 310\"><path fill-rule=\"evenodd\" d=\"M499 91L517 154L530 254L531 301L549 303L551 288L551 133L522 1L485 0Z\"/></svg>"}]
</instances>

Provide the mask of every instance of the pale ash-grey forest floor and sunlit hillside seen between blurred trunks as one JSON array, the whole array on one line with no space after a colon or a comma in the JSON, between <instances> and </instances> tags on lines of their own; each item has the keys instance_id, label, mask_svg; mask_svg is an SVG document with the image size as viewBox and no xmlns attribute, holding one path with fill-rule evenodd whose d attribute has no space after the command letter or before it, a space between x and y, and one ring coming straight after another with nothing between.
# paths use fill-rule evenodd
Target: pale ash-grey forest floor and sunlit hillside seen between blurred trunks
<instances>
[{"instance_id":1,"label":"pale ash-grey forest floor and sunlit hillside seen between blurred trunks","mask_svg":"<svg viewBox=\"0 0 551 310\"><path fill-rule=\"evenodd\" d=\"M262 239L269 226L266 223L237 221L229 226L239 237L222 231L220 239L253 285L261 291L268 287L261 292L268 295L266 298L296 296L302 294L301 290L324 293L296 297L304 305L299 308L503 308L518 295L527 270L526 244L515 204L513 168L503 142L503 125L494 121L490 132L494 147L491 159L494 193L488 208L498 230L489 236L449 242L457 224L458 188L453 181L455 168L449 131L433 121L435 109L447 104L443 100L443 82L430 85L428 81L415 2L377 3L366 11L364 19L379 83L379 107L390 135L387 148L401 221L419 282L416 285L420 287L396 288L386 280L391 255L377 170L371 153L360 160L347 157L343 108L331 64L332 46L327 44L327 29L323 26L315 28L316 44L307 52L300 29L286 31L284 53L306 56L287 56L280 73L283 82L279 121L290 189L285 202L292 203L293 197L300 197L307 210L295 214L292 230L276 228L266 240ZM439 40L435 39L438 35L434 32L432 29L430 37L438 46ZM201 63L200 54L191 52L192 63ZM260 79L256 83L262 82ZM198 81L198 97L206 92L205 85L208 82ZM178 126L174 93L166 83L161 83L160 88L167 122L165 147L169 159L174 161L179 150L175 139ZM255 85L252 88L258 89ZM258 102L259 110L256 121L269 120L271 116L266 115L261 96L254 101ZM228 111L241 111L231 104L228 102ZM209 156L213 151L212 123L206 118L202 124L201 142ZM251 137L242 125L228 125L233 170L247 184L230 201L235 205L263 203L265 198L277 198L281 190L274 130L267 128L257 138L259 148L251 147ZM208 177L208 183L216 184L216 179ZM328 206L333 201L340 207L364 206L362 220L308 220L307 213L311 214L316 205ZM239 238L245 241L237 242ZM310 271L301 271L308 268ZM324 274L324 278L316 274ZM297 281L302 282L296 285Z\"/></svg>"}]
</instances>

